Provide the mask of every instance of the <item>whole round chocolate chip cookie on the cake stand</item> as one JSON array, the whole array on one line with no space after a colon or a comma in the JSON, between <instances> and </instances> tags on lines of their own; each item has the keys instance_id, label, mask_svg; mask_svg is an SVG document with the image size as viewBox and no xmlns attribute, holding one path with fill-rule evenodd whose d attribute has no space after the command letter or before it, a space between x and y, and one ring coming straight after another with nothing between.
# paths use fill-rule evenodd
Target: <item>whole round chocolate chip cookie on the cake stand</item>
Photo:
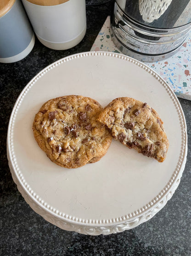
<instances>
[{"instance_id":1,"label":"whole round chocolate chip cookie on the cake stand","mask_svg":"<svg viewBox=\"0 0 191 256\"><path fill-rule=\"evenodd\" d=\"M59 166L77 168L99 161L112 141L105 125L96 120L101 110L97 101L84 96L51 99L35 115L34 137Z\"/></svg>"}]
</instances>

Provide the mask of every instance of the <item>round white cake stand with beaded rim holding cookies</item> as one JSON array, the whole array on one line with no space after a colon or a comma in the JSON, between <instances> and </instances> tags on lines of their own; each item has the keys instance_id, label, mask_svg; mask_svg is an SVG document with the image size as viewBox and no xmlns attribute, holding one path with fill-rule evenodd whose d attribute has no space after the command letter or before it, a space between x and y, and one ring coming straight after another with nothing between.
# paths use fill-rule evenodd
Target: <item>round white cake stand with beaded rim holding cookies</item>
<instances>
[{"instance_id":1,"label":"round white cake stand with beaded rim holding cookies","mask_svg":"<svg viewBox=\"0 0 191 256\"><path fill-rule=\"evenodd\" d=\"M96 163L77 169L52 163L34 140L34 115L45 101L70 94L102 106L120 96L147 102L164 122L166 160L158 163L113 140ZM122 232L152 218L179 185L186 154L184 113L172 89L122 54L75 54L46 67L23 89L8 128L9 165L22 196L49 222L84 234Z\"/></svg>"}]
</instances>

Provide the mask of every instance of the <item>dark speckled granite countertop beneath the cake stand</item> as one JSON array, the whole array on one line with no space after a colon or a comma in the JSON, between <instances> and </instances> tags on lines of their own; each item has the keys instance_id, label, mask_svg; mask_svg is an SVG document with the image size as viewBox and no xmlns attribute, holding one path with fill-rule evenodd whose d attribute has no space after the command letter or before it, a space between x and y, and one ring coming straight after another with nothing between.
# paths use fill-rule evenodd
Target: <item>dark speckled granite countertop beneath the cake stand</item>
<instances>
[{"instance_id":1,"label":"dark speckled granite countertop beneath the cake stand","mask_svg":"<svg viewBox=\"0 0 191 256\"><path fill-rule=\"evenodd\" d=\"M103 0L86 0L87 4ZM107 1L108 2L108 1ZM180 100L188 133L188 155L180 185L151 220L129 231L89 236L64 231L36 214L17 191L6 156L12 107L25 85L62 57L89 51L111 3L87 6L87 32L76 47L55 51L37 39L32 52L17 63L0 64L0 255L191 255L191 101ZM168 107L167 107L168 111Z\"/></svg>"}]
</instances>

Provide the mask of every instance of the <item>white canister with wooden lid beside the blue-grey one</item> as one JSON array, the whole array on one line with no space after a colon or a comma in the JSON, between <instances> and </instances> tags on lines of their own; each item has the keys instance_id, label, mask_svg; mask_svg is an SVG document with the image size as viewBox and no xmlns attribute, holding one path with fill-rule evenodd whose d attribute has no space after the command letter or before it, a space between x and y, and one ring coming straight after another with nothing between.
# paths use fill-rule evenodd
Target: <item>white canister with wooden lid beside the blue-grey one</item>
<instances>
[{"instance_id":1,"label":"white canister with wooden lid beside the blue-grey one","mask_svg":"<svg viewBox=\"0 0 191 256\"><path fill-rule=\"evenodd\" d=\"M55 50L76 46L86 32L85 0L22 0L39 41Z\"/></svg>"}]
</instances>

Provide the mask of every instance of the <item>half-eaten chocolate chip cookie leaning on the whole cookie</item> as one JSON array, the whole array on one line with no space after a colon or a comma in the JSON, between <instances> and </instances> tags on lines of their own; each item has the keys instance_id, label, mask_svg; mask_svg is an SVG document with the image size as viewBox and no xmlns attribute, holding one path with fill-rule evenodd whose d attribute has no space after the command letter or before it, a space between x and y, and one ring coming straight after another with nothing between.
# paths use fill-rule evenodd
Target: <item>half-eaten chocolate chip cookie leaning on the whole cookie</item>
<instances>
[{"instance_id":1,"label":"half-eaten chocolate chip cookie leaning on the whole cookie","mask_svg":"<svg viewBox=\"0 0 191 256\"><path fill-rule=\"evenodd\" d=\"M139 153L163 162L169 141L157 112L141 101L122 97L113 100L97 119L112 136Z\"/></svg>"}]
</instances>

